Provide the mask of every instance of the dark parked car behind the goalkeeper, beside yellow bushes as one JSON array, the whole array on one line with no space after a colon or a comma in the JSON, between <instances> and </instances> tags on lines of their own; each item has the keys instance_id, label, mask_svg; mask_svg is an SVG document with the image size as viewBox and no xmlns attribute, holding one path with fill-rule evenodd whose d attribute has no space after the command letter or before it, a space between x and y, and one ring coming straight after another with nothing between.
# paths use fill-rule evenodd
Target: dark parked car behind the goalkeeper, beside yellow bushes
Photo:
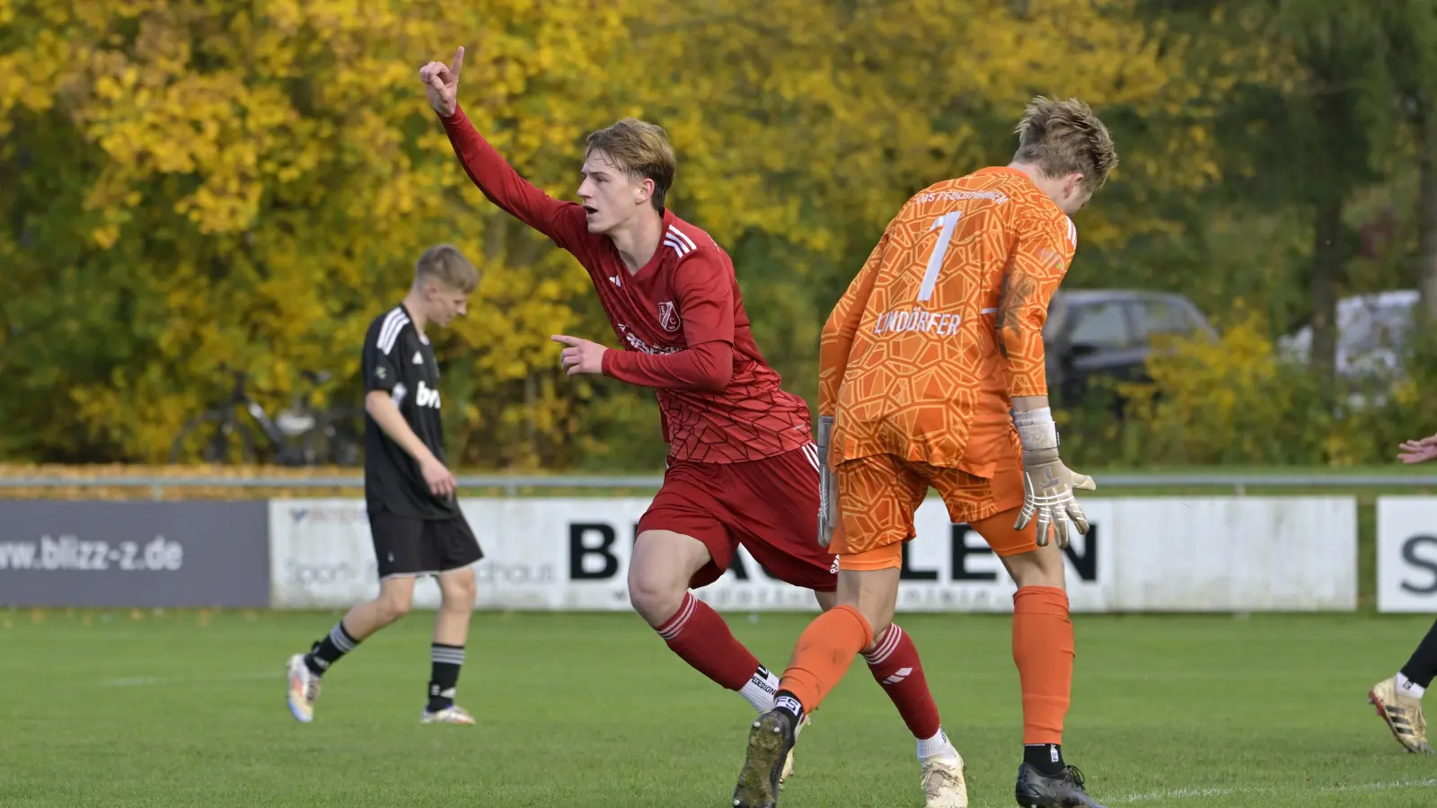
<instances>
[{"instance_id":1,"label":"dark parked car behind the goalkeeper, beside yellow bushes","mask_svg":"<svg viewBox=\"0 0 1437 808\"><path fill-rule=\"evenodd\" d=\"M1096 378L1150 381L1151 338L1167 334L1217 339L1217 329L1183 295L1138 289L1058 292L1043 328L1049 395L1055 404L1076 405Z\"/></svg>"}]
</instances>

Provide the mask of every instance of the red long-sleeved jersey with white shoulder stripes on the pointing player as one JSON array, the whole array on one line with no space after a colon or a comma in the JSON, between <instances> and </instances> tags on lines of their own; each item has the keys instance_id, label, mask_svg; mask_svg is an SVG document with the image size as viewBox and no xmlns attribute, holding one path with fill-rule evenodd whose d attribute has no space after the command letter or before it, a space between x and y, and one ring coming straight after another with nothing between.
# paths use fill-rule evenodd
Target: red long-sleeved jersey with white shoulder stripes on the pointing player
<instances>
[{"instance_id":1,"label":"red long-sleeved jersey with white shoulder stripes on the pointing player","mask_svg":"<svg viewBox=\"0 0 1437 808\"><path fill-rule=\"evenodd\" d=\"M808 403L759 352L733 262L707 233L665 210L662 243L631 273L582 206L520 177L463 109L440 119L474 185L589 272L622 345L605 351L604 374L655 388L671 459L739 463L812 441Z\"/></svg>"}]
</instances>

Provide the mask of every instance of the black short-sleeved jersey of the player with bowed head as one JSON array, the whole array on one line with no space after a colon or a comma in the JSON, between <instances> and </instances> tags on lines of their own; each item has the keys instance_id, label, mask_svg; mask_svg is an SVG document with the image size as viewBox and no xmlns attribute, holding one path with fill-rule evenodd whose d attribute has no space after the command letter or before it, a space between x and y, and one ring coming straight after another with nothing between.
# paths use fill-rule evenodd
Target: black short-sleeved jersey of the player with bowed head
<instances>
[{"instance_id":1,"label":"black short-sleeved jersey of the player with bowed head","mask_svg":"<svg viewBox=\"0 0 1437 808\"><path fill-rule=\"evenodd\" d=\"M414 434L444 462L444 424L440 417L440 367L427 336L414 328L410 312L398 305L376 316L364 338L365 394L382 390L399 408ZM364 489L369 513L415 519L451 519L458 502L430 493L420 463L365 416Z\"/></svg>"}]
</instances>

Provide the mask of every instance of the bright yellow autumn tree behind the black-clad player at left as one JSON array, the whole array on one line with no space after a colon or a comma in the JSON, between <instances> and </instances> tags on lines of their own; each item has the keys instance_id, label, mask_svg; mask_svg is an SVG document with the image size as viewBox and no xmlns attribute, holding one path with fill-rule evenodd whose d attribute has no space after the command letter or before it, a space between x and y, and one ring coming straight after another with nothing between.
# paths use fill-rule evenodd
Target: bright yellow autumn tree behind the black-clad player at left
<instances>
[{"instance_id":1,"label":"bright yellow autumn tree behind the black-clad player at left","mask_svg":"<svg viewBox=\"0 0 1437 808\"><path fill-rule=\"evenodd\" d=\"M6 397L9 423L33 427L24 440L161 459L227 391L221 367L274 405L302 368L329 369L354 401L343 382L369 318L425 246L454 242L486 275L445 357L466 403L457 443L487 443L470 462L527 460L479 436L562 413L527 371L547 364L585 280L510 249L506 223L470 204L417 70L456 30L503 32L466 70L471 111L565 193L572 165L540 145L572 144L604 106L593 47L621 36L618 16L578 0L76 0L13 3L6 20L4 162L22 168L4 204L24 226L0 256L19 299L6 319L23 328L0 361L26 380Z\"/></svg>"}]
</instances>

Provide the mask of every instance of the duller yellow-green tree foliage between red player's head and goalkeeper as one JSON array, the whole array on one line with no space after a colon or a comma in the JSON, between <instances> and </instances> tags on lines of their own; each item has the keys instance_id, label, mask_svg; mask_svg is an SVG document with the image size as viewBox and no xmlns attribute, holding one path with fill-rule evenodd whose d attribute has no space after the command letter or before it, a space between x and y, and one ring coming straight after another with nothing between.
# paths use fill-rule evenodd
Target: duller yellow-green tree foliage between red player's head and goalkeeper
<instances>
[{"instance_id":1,"label":"duller yellow-green tree foliage between red player's head and goalkeeper","mask_svg":"<svg viewBox=\"0 0 1437 808\"><path fill-rule=\"evenodd\" d=\"M625 47L661 81L629 81L627 111L680 144L675 204L734 252L760 348L812 398L819 326L882 226L918 188L1007 162L1033 95L1083 98L1114 128L1122 165L1078 216L1088 249L1171 229L1154 200L1211 181L1207 125L1232 79L1186 75L1187 43L1135 10L657 3Z\"/></svg>"}]
</instances>

